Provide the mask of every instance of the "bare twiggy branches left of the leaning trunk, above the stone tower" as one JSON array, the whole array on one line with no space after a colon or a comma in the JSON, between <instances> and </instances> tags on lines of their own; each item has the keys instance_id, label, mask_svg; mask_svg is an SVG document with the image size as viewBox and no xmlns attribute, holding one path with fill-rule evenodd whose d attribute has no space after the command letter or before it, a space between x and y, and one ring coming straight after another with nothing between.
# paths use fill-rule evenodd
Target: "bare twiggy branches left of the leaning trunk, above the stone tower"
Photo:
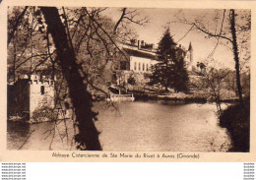
<instances>
[{"instance_id":1,"label":"bare twiggy branches left of the leaning trunk, above the stone tower","mask_svg":"<svg viewBox=\"0 0 256 180\"><path fill-rule=\"evenodd\" d=\"M35 15L35 7L13 7L8 12L8 38L17 25L17 18L23 18L13 32L8 45L8 82L15 82L21 75L36 73L41 67L50 69L46 31L39 24L41 17ZM37 42L40 43L37 43Z\"/></svg>"}]
</instances>

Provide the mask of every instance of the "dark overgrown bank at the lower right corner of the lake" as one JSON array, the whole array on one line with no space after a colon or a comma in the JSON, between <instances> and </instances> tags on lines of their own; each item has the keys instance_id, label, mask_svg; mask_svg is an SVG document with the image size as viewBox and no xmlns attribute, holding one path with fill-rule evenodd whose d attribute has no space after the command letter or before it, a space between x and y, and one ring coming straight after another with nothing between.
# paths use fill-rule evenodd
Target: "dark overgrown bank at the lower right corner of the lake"
<instances>
[{"instance_id":1,"label":"dark overgrown bank at the lower right corner of the lake","mask_svg":"<svg viewBox=\"0 0 256 180\"><path fill-rule=\"evenodd\" d=\"M249 151L250 98L244 98L244 108L237 103L227 107L220 117L220 125L230 133L232 140L230 151Z\"/></svg>"}]
</instances>

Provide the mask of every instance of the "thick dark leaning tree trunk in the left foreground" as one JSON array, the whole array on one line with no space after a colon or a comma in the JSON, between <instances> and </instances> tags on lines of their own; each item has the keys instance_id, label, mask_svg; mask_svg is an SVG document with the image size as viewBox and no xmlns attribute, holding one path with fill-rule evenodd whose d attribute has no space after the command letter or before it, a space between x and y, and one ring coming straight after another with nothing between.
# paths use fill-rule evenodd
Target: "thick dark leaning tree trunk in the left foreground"
<instances>
[{"instance_id":1,"label":"thick dark leaning tree trunk in the left foreground","mask_svg":"<svg viewBox=\"0 0 256 180\"><path fill-rule=\"evenodd\" d=\"M52 35L59 64L67 81L70 97L75 108L76 122L79 129L75 141L79 144L78 148L81 150L101 150L94 123L96 113L92 110L92 96L79 73L75 52L68 43L65 27L61 22L58 10L55 7L41 7L40 9L45 18L47 29Z\"/></svg>"}]
</instances>

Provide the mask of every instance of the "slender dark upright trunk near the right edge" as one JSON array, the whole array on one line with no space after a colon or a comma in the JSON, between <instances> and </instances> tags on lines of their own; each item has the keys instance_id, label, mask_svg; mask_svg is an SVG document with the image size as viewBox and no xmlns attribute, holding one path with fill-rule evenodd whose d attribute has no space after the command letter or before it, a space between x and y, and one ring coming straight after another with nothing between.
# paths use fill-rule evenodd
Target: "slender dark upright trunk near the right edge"
<instances>
[{"instance_id":1,"label":"slender dark upright trunk near the right edge","mask_svg":"<svg viewBox=\"0 0 256 180\"><path fill-rule=\"evenodd\" d=\"M235 15L234 10L230 10L230 30L232 33L232 49L233 49L233 59L235 62L235 73L236 73L236 86L237 92L239 96L240 105L243 106L242 100L242 88L240 83L240 67L239 67L239 56L238 56L238 48L237 48L237 41L236 41L236 30L235 30Z\"/></svg>"}]
</instances>

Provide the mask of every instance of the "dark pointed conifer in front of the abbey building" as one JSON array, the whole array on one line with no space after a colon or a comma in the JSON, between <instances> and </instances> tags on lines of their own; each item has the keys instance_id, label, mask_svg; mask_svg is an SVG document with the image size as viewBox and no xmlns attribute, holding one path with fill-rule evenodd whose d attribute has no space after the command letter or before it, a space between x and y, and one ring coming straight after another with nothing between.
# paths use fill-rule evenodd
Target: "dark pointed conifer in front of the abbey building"
<instances>
[{"instance_id":1,"label":"dark pointed conifer in front of the abbey building","mask_svg":"<svg viewBox=\"0 0 256 180\"><path fill-rule=\"evenodd\" d=\"M187 91L188 74L185 69L183 49L176 47L169 29L165 30L159 42L159 63L153 67L153 75L149 85L160 84L168 91Z\"/></svg>"}]
</instances>

